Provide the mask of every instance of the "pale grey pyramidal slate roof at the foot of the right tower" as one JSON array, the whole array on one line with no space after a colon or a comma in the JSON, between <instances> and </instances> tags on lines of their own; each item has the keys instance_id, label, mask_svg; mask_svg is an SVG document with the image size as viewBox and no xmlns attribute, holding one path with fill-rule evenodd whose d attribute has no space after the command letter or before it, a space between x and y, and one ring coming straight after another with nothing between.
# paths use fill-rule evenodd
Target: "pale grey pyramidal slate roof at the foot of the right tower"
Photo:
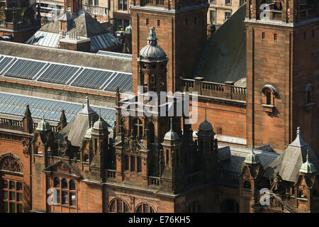
<instances>
[{"instance_id":1,"label":"pale grey pyramidal slate roof at the foot of the right tower","mask_svg":"<svg viewBox=\"0 0 319 227\"><path fill-rule=\"evenodd\" d=\"M278 170L282 179L288 182L296 182L301 165L306 162L307 150L310 162L313 163L316 170L319 170L318 156L310 148L310 145L301 138L301 132L297 131L293 143L265 169L265 176L272 177L274 171Z\"/></svg>"}]
</instances>

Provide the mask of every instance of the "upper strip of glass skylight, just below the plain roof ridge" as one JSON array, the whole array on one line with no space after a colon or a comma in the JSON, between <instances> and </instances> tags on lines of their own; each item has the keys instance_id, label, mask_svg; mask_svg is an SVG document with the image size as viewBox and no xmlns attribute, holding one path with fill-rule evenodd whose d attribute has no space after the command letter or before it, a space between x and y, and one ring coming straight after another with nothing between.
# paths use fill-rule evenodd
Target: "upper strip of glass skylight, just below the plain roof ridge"
<instances>
[{"instance_id":1,"label":"upper strip of glass skylight, just below the plain roof ridge","mask_svg":"<svg viewBox=\"0 0 319 227\"><path fill-rule=\"evenodd\" d=\"M0 75L89 89L131 92L132 74L0 55Z\"/></svg>"}]
</instances>

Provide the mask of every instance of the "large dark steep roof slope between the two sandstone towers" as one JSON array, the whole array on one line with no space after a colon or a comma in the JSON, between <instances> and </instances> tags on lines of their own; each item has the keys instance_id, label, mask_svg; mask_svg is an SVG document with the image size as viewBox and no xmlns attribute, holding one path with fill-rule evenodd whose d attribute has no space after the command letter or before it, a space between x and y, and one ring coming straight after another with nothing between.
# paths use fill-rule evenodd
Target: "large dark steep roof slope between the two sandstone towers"
<instances>
[{"instance_id":1,"label":"large dark steep roof slope between the two sandstone towers","mask_svg":"<svg viewBox=\"0 0 319 227\"><path fill-rule=\"evenodd\" d=\"M246 86L246 4L208 39L195 75L208 82Z\"/></svg>"}]
</instances>

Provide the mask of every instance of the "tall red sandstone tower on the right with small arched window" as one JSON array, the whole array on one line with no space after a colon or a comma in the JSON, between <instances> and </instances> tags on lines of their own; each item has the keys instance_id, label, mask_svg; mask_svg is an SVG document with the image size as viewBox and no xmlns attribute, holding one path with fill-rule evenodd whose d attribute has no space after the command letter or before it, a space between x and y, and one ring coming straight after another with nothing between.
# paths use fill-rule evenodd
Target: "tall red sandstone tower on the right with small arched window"
<instances>
[{"instance_id":1,"label":"tall red sandstone tower on the right with small arched window","mask_svg":"<svg viewBox=\"0 0 319 227\"><path fill-rule=\"evenodd\" d=\"M281 152L298 125L318 150L319 4L247 1L247 145Z\"/></svg>"}]
</instances>

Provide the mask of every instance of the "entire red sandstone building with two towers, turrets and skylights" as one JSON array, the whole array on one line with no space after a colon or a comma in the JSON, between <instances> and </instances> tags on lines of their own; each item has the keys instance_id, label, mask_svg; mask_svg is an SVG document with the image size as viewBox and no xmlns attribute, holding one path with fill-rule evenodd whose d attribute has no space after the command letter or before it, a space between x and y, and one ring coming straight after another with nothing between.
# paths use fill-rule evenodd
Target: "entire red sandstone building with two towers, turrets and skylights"
<instances>
[{"instance_id":1,"label":"entire red sandstone building with two towers, turrets and skylights","mask_svg":"<svg viewBox=\"0 0 319 227\"><path fill-rule=\"evenodd\" d=\"M319 5L256 2L206 41L206 1L131 1L131 60L0 41L0 211L318 212ZM138 86L198 92L198 123L123 116Z\"/></svg>"}]
</instances>

